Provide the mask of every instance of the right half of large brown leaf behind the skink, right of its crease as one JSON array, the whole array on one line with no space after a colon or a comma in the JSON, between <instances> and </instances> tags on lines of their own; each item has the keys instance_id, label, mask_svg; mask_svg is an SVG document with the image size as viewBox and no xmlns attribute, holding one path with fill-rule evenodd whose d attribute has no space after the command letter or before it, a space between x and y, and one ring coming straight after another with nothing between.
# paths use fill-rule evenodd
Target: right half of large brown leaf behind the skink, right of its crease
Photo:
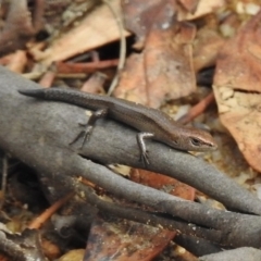
<instances>
[{"instance_id":1,"label":"right half of large brown leaf behind the skink, right of its crease","mask_svg":"<svg viewBox=\"0 0 261 261\"><path fill-rule=\"evenodd\" d=\"M192 40L196 27L174 23L166 30L149 34L145 48L148 104L160 107L165 99L178 99L196 90Z\"/></svg>"}]
</instances>

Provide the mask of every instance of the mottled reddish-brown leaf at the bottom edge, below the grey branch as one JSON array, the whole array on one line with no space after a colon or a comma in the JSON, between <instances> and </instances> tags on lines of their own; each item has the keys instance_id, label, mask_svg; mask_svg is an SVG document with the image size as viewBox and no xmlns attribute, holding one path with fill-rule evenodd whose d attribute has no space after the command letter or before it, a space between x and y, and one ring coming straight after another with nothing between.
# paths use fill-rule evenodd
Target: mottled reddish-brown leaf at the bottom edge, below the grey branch
<instances>
[{"instance_id":1,"label":"mottled reddish-brown leaf at the bottom edge, below the grey branch","mask_svg":"<svg viewBox=\"0 0 261 261\"><path fill-rule=\"evenodd\" d=\"M132 221L97 219L90 228L86 260L150 261L173 238L173 232L162 235L161 231Z\"/></svg>"}]
</instances>

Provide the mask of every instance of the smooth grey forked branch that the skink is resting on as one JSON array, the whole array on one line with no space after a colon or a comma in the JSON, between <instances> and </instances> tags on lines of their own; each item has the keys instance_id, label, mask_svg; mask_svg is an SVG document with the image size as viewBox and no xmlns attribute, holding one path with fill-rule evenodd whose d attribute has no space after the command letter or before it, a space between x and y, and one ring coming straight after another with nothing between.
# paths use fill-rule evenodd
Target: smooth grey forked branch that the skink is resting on
<instances>
[{"instance_id":1,"label":"smooth grey forked branch that the skink is resting on","mask_svg":"<svg viewBox=\"0 0 261 261\"><path fill-rule=\"evenodd\" d=\"M169 213L177 222L182 219L183 224L187 221L199 228L213 228L215 235L210 237L221 245L260 247L260 216L219 211L182 200L135 184L105 166L94 163L122 163L142 167L138 161L136 130L116 122L101 120L83 149L78 149L80 141L70 146L79 132L78 122L87 120L84 110L61 102L35 100L17 92L17 89L38 87L37 84L0 67L0 148L38 172L49 199L53 200L69 189L80 195L83 186L75 177L84 176L120 198ZM148 170L185 182L231 209L261 214L260 200L210 164L160 142L147 141L147 147L151 162ZM92 198L96 206L110 211L107 204L97 200L99 199ZM113 213L116 214L116 211ZM122 213L120 216L124 214ZM171 227L167 224L165 226ZM194 227L189 229L192 231ZM211 229L209 233L211 234ZM197 232L195 235L198 236Z\"/></svg>"}]
</instances>

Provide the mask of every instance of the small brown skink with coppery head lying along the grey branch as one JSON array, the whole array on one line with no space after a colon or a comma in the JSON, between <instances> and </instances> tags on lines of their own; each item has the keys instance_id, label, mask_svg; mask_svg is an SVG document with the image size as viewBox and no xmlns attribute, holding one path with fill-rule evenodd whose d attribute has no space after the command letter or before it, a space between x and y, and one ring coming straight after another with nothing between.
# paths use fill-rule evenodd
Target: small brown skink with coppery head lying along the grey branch
<instances>
[{"instance_id":1,"label":"small brown skink with coppery head lying along the grey branch","mask_svg":"<svg viewBox=\"0 0 261 261\"><path fill-rule=\"evenodd\" d=\"M102 116L108 116L138 129L140 133L137 134L137 144L140 150L140 160L145 164L149 164L145 144L146 138L186 151L208 151L217 147L209 133L179 125L160 110L127 100L63 88L23 89L18 91L25 96L63 101L94 110L95 112L87 123L84 142L88 140L95 122Z\"/></svg>"}]
</instances>

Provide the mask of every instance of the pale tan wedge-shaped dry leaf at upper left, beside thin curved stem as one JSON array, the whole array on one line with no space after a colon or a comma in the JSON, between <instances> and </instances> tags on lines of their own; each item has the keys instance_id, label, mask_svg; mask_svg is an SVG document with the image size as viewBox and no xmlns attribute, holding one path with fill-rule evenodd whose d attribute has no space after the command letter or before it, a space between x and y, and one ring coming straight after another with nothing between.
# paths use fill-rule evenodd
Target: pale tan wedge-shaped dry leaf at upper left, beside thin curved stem
<instances>
[{"instance_id":1,"label":"pale tan wedge-shaped dry leaf at upper left, beside thin curved stem","mask_svg":"<svg viewBox=\"0 0 261 261\"><path fill-rule=\"evenodd\" d=\"M114 12L121 17L120 0L110 1ZM124 32L124 35L129 35ZM34 59L45 64L63 61L76 54L92 50L120 38L116 20L107 4L101 4L88 13L73 29L51 42L44 52L35 53Z\"/></svg>"}]
</instances>

